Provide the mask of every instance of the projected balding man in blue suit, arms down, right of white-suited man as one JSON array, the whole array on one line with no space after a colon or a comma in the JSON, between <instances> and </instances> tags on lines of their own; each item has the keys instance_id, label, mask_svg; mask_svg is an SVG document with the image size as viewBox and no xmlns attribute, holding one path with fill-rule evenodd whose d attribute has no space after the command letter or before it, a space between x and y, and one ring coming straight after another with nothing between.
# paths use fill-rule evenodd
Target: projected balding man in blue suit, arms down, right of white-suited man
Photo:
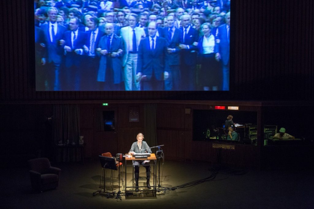
<instances>
[{"instance_id":1,"label":"projected balding man in blue suit, arms down, right of white-suited man","mask_svg":"<svg viewBox=\"0 0 314 209\"><path fill-rule=\"evenodd\" d=\"M137 80L141 80L142 90L163 90L165 53L167 41L156 36L155 22L148 25L148 37L138 46Z\"/></svg>"}]
</instances>

